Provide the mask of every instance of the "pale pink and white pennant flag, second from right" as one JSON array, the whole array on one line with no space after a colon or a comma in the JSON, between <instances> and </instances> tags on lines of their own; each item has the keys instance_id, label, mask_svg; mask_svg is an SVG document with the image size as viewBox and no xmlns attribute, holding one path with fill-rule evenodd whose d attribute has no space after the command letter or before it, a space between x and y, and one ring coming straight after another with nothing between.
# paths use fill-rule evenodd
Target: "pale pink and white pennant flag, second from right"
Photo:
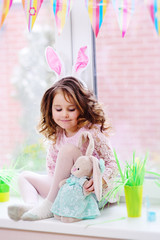
<instances>
[{"instance_id":1,"label":"pale pink and white pennant flag, second from right","mask_svg":"<svg viewBox=\"0 0 160 240\"><path fill-rule=\"evenodd\" d=\"M125 36L129 22L135 11L136 3L137 0L112 0L122 37Z\"/></svg>"}]
</instances>

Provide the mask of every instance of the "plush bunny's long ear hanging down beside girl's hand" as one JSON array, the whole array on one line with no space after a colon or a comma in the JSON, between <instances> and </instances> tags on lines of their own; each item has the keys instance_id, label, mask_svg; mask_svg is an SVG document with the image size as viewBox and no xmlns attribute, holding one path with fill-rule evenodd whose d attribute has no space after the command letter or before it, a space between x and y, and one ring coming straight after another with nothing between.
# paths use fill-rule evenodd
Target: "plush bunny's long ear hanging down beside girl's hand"
<instances>
[{"instance_id":1,"label":"plush bunny's long ear hanging down beside girl's hand","mask_svg":"<svg viewBox=\"0 0 160 240\"><path fill-rule=\"evenodd\" d=\"M94 191L97 197L97 200L100 201L102 198L102 172L99 167L99 161L97 158L91 156L90 160L93 163L93 182L94 182Z\"/></svg>"}]
</instances>

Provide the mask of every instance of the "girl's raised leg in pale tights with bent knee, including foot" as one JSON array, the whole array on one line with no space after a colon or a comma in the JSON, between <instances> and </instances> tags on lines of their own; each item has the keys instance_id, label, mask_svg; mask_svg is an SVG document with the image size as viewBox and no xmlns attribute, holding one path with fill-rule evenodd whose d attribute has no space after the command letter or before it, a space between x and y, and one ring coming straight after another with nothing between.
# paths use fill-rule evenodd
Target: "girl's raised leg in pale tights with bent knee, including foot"
<instances>
[{"instance_id":1,"label":"girl's raised leg in pale tights with bent knee, including foot","mask_svg":"<svg viewBox=\"0 0 160 240\"><path fill-rule=\"evenodd\" d=\"M77 148L74 145L67 144L61 148L57 157L56 168L47 198L40 206L35 207L30 211L26 212L22 216L23 220L32 221L52 217L50 209L57 196L59 190L59 183L61 180L68 178L70 176L73 164L75 163L77 158L81 155L82 154L79 148Z\"/></svg>"}]
</instances>

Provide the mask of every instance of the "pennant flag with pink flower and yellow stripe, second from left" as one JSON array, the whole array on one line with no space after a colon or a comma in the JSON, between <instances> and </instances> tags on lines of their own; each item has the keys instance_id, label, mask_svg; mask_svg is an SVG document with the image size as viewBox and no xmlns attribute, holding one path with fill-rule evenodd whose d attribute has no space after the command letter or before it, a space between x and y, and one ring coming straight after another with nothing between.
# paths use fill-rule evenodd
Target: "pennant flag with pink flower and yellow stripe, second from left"
<instances>
[{"instance_id":1,"label":"pennant flag with pink flower and yellow stripe, second from left","mask_svg":"<svg viewBox=\"0 0 160 240\"><path fill-rule=\"evenodd\" d=\"M22 0L23 8L27 17L28 29L32 30L43 0Z\"/></svg>"}]
</instances>

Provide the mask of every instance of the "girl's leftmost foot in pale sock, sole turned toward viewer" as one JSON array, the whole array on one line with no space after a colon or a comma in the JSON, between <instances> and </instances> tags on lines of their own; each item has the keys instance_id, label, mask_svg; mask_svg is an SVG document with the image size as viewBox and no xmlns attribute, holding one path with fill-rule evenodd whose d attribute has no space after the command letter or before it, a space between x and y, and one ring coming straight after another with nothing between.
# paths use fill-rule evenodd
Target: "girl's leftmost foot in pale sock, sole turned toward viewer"
<instances>
[{"instance_id":1,"label":"girl's leftmost foot in pale sock, sole turned toward viewer","mask_svg":"<svg viewBox=\"0 0 160 240\"><path fill-rule=\"evenodd\" d=\"M22 215L33 208L31 204L13 204L8 206L8 216L15 220L21 220Z\"/></svg>"}]
</instances>

